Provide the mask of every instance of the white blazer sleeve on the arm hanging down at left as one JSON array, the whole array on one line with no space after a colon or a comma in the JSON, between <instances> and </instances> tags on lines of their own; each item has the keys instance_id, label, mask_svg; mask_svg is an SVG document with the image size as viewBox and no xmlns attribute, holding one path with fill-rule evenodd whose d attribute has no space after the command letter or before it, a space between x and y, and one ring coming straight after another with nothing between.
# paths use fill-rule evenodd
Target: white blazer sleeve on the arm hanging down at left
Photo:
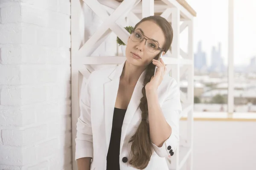
<instances>
[{"instance_id":1,"label":"white blazer sleeve on the arm hanging down at left","mask_svg":"<svg viewBox=\"0 0 256 170\"><path fill-rule=\"evenodd\" d=\"M92 75L92 74L91 74ZM75 160L84 157L93 158L93 134L90 113L90 79L83 80L80 94L80 116L76 124L76 154Z\"/></svg>"}]
</instances>

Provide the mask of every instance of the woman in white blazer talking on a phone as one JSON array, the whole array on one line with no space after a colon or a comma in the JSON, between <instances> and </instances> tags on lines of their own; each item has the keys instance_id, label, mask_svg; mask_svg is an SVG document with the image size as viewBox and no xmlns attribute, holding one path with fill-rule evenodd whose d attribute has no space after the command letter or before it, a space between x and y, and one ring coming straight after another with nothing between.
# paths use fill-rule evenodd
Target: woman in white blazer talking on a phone
<instances>
[{"instance_id":1,"label":"woman in white blazer talking on a phone","mask_svg":"<svg viewBox=\"0 0 256 170\"><path fill-rule=\"evenodd\" d=\"M168 170L165 157L179 140L180 93L156 59L172 37L166 19L145 17L128 39L126 61L90 75L77 123L79 170Z\"/></svg>"}]
</instances>

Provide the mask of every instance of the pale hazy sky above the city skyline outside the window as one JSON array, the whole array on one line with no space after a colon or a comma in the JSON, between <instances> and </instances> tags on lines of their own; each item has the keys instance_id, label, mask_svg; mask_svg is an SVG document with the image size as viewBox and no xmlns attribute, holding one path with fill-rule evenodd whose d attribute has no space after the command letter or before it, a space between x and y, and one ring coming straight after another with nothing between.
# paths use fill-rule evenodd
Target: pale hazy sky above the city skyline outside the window
<instances>
[{"instance_id":1,"label":"pale hazy sky above the city skyline outside the window","mask_svg":"<svg viewBox=\"0 0 256 170\"><path fill-rule=\"evenodd\" d=\"M256 56L256 0L234 1L234 64L248 65ZM228 55L228 0L187 0L197 12L194 18L194 51L202 42L210 65L212 46L218 48L227 65ZM180 37L180 45L185 46L186 37Z\"/></svg>"}]
</instances>

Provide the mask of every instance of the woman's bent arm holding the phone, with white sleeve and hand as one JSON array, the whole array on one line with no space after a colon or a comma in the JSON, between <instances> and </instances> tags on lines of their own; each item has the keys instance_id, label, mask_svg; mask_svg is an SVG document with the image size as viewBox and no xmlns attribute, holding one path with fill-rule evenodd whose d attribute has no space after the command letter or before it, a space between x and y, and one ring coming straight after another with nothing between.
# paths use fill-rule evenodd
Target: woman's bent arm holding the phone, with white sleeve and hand
<instances>
[{"instance_id":1,"label":"woman's bent arm holding the phone, with white sleeve and hand","mask_svg":"<svg viewBox=\"0 0 256 170\"><path fill-rule=\"evenodd\" d=\"M166 88L166 99L160 106L157 88L166 73L163 59L153 59L157 73L145 86L148 101L149 133L152 146L160 157L173 155L179 142L179 115L181 113L180 89L177 82L170 78Z\"/></svg>"}]
</instances>

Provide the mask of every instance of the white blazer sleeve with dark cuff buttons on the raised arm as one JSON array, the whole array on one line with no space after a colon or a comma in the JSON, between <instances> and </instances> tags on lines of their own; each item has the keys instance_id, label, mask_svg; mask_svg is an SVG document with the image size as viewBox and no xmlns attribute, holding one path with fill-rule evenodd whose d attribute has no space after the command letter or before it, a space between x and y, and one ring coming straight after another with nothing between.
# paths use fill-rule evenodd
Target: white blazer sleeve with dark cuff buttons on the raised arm
<instances>
[{"instance_id":1,"label":"white blazer sleeve with dark cuff buttons on the raised arm","mask_svg":"<svg viewBox=\"0 0 256 170\"><path fill-rule=\"evenodd\" d=\"M167 157L174 154L179 143L179 121L182 107L180 102L180 89L175 79L172 79L167 98L163 102L161 109L166 121L172 127L172 133L163 143L163 146L158 147L153 143L152 145L158 156Z\"/></svg>"}]
</instances>

